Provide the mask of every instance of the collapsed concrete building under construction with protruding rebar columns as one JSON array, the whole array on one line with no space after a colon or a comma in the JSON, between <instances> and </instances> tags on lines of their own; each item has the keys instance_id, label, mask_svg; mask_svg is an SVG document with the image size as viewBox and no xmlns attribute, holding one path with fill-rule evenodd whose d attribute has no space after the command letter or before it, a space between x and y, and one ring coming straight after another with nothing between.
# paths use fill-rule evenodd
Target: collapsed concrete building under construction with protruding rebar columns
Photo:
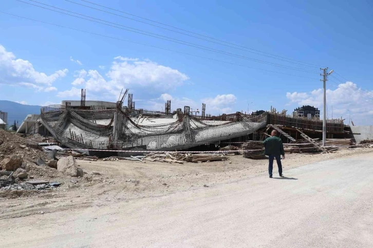
<instances>
[{"instance_id":1,"label":"collapsed concrete building under construction with protruding rebar columns","mask_svg":"<svg viewBox=\"0 0 373 248\"><path fill-rule=\"evenodd\" d=\"M202 144L263 140L272 129L278 130L284 142L302 139L301 133L322 133L323 123L318 118L294 117L286 115L286 110L211 116L202 104L201 115L197 115L199 111L188 106L172 110L171 100L165 103L164 111L145 110L135 108L132 94L124 104L127 92L118 102L110 103L85 101L82 90L80 102L43 107L36 122L56 141L78 150L180 150ZM345 136L345 128L341 119L328 120L328 138Z\"/></svg>"}]
</instances>

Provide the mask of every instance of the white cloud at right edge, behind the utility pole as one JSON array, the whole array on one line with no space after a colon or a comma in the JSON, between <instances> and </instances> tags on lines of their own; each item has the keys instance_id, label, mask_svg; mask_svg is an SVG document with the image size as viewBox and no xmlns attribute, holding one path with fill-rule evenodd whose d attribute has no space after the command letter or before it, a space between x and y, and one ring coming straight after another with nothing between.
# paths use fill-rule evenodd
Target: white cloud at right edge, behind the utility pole
<instances>
[{"instance_id":1,"label":"white cloud at right edge, behind the utility pole","mask_svg":"<svg viewBox=\"0 0 373 248\"><path fill-rule=\"evenodd\" d=\"M311 105L318 107L322 112L323 89L315 89L310 92L287 92L286 97L290 104ZM327 89L327 116L331 119L331 106L333 106L334 119L342 116L348 122L348 110L350 110L351 119L355 124L371 124L373 121L373 112L370 112L373 103L372 97L373 90L362 90L352 82L340 84L334 90Z\"/></svg>"}]
</instances>

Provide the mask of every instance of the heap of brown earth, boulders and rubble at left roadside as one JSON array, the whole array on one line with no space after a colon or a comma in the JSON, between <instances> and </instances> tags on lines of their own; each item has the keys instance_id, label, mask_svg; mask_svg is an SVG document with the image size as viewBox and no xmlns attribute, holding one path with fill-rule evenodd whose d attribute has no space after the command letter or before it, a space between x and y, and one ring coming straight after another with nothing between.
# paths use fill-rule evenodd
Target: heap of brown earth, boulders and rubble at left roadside
<instances>
[{"instance_id":1,"label":"heap of brown earth, boulders and rubble at left roadside","mask_svg":"<svg viewBox=\"0 0 373 248\"><path fill-rule=\"evenodd\" d=\"M83 176L72 156L48 158L35 141L0 129L0 190L53 189Z\"/></svg>"}]
</instances>

